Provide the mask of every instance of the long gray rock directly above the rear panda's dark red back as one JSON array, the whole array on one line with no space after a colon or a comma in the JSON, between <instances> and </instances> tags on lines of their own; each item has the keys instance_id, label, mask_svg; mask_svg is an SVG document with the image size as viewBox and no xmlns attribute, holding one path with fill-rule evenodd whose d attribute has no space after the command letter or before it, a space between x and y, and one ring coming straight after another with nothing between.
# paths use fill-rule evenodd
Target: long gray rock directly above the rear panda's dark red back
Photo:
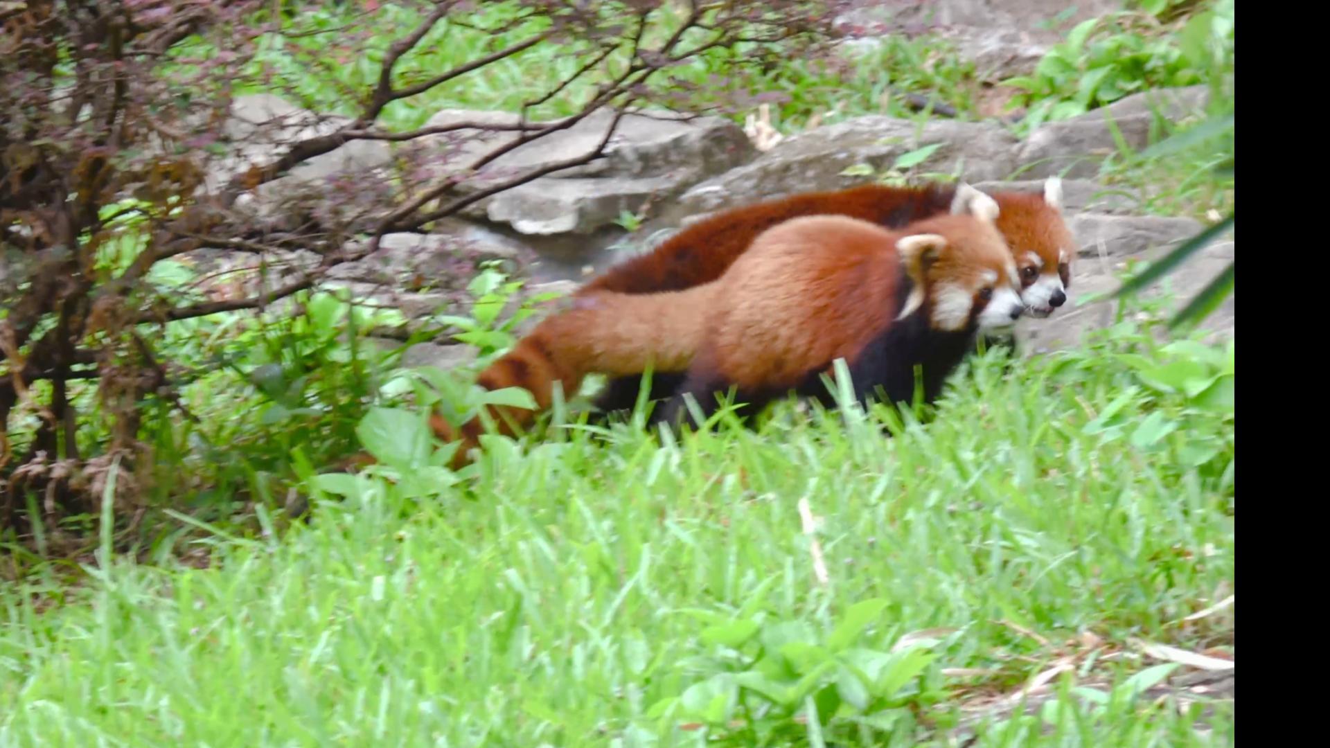
<instances>
[{"instance_id":1,"label":"long gray rock directly above the rear panda's dark red back","mask_svg":"<svg viewBox=\"0 0 1330 748\"><path fill-rule=\"evenodd\" d=\"M916 137L918 132L918 137ZM960 170L967 180L999 180L1016 166L1016 138L992 122L930 121L866 116L825 125L781 141L751 164L684 193L677 218L797 192L843 189L868 177L843 176L847 166L891 166L916 148L940 144L916 172ZM676 220L677 220L676 218Z\"/></svg>"}]
</instances>

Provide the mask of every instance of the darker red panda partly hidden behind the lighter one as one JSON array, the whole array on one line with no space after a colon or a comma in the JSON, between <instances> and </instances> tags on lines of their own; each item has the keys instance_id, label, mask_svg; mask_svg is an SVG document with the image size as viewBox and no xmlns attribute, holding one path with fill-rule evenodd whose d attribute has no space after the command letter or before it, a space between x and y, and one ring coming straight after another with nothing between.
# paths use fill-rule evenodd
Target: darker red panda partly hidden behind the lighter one
<instances>
[{"instance_id":1,"label":"darker red panda partly hidden behind the lighter one","mask_svg":"<svg viewBox=\"0 0 1330 748\"><path fill-rule=\"evenodd\" d=\"M660 246L625 260L589 281L577 295L602 293L649 294L700 286L720 278L763 230L799 216L830 214L862 218L886 228L946 213L960 188L928 185L891 188L864 185L838 192L803 193L725 210L693 224ZM1061 180L1044 182L1044 193L995 192L998 230L1012 250L1021 281L1021 299L1036 318L1048 317L1067 301L1076 241L1063 220ZM613 335L608 326L589 326L579 338ZM660 335L646 339L661 341ZM673 341L670 341L673 343ZM634 345L642 345L636 341ZM637 401L642 371L612 377L597 397L601 411L628 410ZM678 387L682 375L668 370L652 378L650 399L661 399ZM524 386L521 382L511 382Z\"/></svg>"}]
</instances>

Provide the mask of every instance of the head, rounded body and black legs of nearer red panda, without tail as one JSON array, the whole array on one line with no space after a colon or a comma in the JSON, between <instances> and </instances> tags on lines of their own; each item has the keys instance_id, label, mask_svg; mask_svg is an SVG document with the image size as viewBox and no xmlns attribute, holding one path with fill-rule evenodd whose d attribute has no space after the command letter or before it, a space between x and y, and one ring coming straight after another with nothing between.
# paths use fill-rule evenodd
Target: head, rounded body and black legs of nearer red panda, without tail
<instances>
[{"instance_id":1,"label":"head, rounded body and black legs of nearer red panda, without tail","mask_svg":"<svg viewBox=\"0 0 1330 748\"><path fill-rule=\"evenodd\" d=\"M713 410L732 387L749 414L789 391L827 402L821 377L837 358L861 401L876 387L911 399L919 366L931 402L980 330L1009 327L1025 309L1001 234L968 216L908 233L845 216L793 218L709 285L701 345L657 421L677 419L685 395Z\"/></svg>"}]
</instances>

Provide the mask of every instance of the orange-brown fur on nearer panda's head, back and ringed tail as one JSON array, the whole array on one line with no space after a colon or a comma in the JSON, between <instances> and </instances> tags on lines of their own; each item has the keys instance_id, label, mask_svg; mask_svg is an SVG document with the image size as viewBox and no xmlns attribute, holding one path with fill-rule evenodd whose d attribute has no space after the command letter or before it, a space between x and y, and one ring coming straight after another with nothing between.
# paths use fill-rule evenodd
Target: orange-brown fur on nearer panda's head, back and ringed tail
<instances>
[{"instance_id":1,"label":"orange-brown fur on nearer panda's head, back and ringed tail","mask_svg":"<svg viewBox=\"0 0 1330 748\"><path fill-rule=\"evenodd\" d=\"M1011 261L1001 236L970 216L939 216L910 226L911 234L948 240L943 254L915 281L942 278L974 285L994 270L1005 277ZM861 346L891 323L903 280L895 242L903 232L842 216L803 217L773 228L753 242L717 281L680 291L588 293L551 315L479 378L489 390L524 386L540 409L553 401L555 382L576 391L585 374L640 374L648 366L684 371L706 350L706 367L749 390L791 387ZM923 273L923 272L920 272ZM588 330L600 330L588 335ZM705 343L705 346L704 346ZM500 433L531 422L533 413L491 407ZM477 442L479 419L454 430L434 422L444 441L463 439L454 465Z\"/></svg>"}]
</instances>

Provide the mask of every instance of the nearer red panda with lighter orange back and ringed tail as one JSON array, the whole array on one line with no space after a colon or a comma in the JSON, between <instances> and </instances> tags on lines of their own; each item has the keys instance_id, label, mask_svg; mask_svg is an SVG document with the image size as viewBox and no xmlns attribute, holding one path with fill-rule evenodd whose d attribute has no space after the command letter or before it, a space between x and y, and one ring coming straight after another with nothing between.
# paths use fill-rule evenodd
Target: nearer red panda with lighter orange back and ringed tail
<instances>
[{"instance_id":1,"label":"nearer red panda with lighter orange back and ringed tail","mask_svg":"<svg viewBox=\"0 0 1330 748\"><path fill-rule=\"evenodd\" d=\"M940 382L963 350L955 361L947 354L934 363L936 343L950 350L955 339L963 347L976 329L1001 319L1009 326L1024 309L1017 266L992 224L998 204L963 186L951 210L911 225L908 236L846 216L801 217L761 233L716 281L668 293L580 295L493 362L479 383L521 383L545 409L555 382L572 393L588 373L640 374L646 366L686 369L689 393L734 385L750 398L801 387L835 358L850 361L851 373L861 358L883 359L886 369L863 374L892 397L894 371L904 367L912 386L920 357ZM919 314L923 323L915 321ZM896 317L902 321L892 322ZM879 334L887 338L876 342ZM861 355L866 346L871 351ZM512 433L533 414L492 407L489 415ZM481 423L455 431L436 419L435 427L444 441L464 439L460 465Z\"/></svg>"}]
</instances>

